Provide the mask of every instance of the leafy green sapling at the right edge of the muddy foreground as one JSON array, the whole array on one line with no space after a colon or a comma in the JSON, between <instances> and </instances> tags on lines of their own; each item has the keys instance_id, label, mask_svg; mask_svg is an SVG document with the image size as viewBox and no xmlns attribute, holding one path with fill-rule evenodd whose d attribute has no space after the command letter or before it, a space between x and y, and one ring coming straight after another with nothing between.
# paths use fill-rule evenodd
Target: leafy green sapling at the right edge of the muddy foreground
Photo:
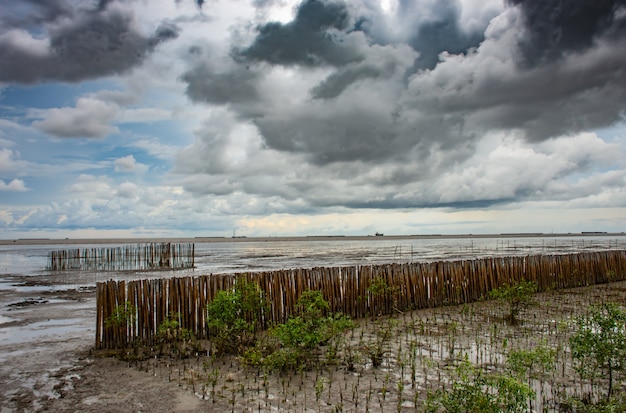
<instances>
[{"instance_id":1,"label":"leafy green sapling at the right edge of the muddy foreground","mask_svg":"<svg viewBox=\"0 0 626 413\"><path fill-rule=\"evenodd\" d=\"M612 303L590 307L576 319L570 348L581 377L608 379L610 400L615 376L626 369L626 311Z\"/></svg>"}]
</instances>

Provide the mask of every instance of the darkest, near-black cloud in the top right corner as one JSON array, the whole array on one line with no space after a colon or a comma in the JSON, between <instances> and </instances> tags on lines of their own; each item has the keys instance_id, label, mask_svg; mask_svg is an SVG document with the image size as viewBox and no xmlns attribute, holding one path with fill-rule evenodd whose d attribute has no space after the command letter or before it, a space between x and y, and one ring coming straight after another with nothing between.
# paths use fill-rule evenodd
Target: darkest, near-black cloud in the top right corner
<instances>
[{"instance_id":1,"label":"darkest, near-black cloud in the top right corner","mask_svg":"<svg viewBox=\"0 0 626 413\"><path fill-rule=\"evenodd\" d=\"M599 37L626 34L626 21L616 18L618 9L626 7L624 0L510 1L524 15L528 35L520 49L531 66L585 50Z\"/></svg>"}]
</instances>

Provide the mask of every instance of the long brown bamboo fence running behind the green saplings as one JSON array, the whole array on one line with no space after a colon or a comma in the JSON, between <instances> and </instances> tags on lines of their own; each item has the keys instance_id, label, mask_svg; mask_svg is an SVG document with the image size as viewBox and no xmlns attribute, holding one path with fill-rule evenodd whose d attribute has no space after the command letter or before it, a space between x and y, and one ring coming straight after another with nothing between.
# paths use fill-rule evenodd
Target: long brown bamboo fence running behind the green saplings
<instances>
[{"instance_id":1,"label":"long brown bamboo fence running behind the green saplings","mask_svg":"<svg viewBox=\"0 0 626 413\"><path fill-rule=\"evenodd\" d=\"M232 289L238 277L263 291L269 307L259 319L268 326L284 322L306 290L320 290L331 311L360 318L469 303L522 280L536 282L538 291L621 281L626 279L626 251L111 280L96 288L96 348L124 348L132 340L154 344L158 326L173 315L195 337L208 338L206 305L219 290ZM384 293L369 289L380 280L388 287ZM116 306L126 303L135 311L126 327L107 326Z\"/></svg>"}]
</instances>

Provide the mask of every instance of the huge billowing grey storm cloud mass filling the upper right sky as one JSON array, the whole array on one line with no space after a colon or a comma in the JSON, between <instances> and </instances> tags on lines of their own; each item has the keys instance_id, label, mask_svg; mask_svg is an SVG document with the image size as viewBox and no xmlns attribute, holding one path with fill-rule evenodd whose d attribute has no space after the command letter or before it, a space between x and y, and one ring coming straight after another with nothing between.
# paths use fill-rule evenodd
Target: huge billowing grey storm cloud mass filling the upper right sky
<instances>
[{"instance_id":1,"label":"huge billowing grey storm cloud mass filling the upper right sky","mask_svg":"<svg viewBox=\"0 0 626 413\"><path fill-rule=\"evenodd\" d=\"M463 4L400 1L383 10L306 0L292 21L258 25L248 45L233 44L221 65L196 58L183 80L194 101L223 105L252 125L260 148L324 168L324 190L310 178L284 183L316 205L476 207L527 198L539 191L528 182L464 197L426 188L444 175L449 185L462 180L449 177L451 168L473 159L487 136L532 145L622 121L625 13L617 2L512 1L483 6L469 24ZM586 14L584 33L574 33ZM203 141L204 133L218 132L199 132Z\"/></svg>"}]
</instances>

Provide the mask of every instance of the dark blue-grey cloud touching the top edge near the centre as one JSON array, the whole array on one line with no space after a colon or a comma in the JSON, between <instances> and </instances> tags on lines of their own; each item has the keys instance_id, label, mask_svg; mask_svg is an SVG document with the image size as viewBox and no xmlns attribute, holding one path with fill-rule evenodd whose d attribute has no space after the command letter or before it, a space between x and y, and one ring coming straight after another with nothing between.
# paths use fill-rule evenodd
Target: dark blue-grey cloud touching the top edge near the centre
<instances>
[{"instance_id":1,"label":"dark blue-grey cloud touching the top edge near the centre","mask_svg":"<svg viewBox=\"0 0 626 413\"><path fill-rule=\"evenodd\" d=\"M235 57L285 66L341 66L357 61L360 53L342 43L349 21L343 3L306 0L294 21L259 27L254 43L235 51Z\"/></svg>"}]
</instances>

